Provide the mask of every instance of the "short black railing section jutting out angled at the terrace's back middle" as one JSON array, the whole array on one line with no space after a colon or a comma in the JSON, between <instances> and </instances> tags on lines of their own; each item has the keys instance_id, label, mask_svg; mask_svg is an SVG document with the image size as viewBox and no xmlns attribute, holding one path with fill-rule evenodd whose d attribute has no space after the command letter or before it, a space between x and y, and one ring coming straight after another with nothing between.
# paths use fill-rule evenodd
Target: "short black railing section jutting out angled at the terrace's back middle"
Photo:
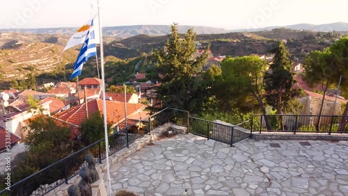
<instances>
[{"instance_id":1,"label":"short black railing section jutting out angled at the terrace's back middle","mask_svg":"<svg viewBox=\"0 0 348 196\"><path fill-rule=\"evenodd\" d=\"M189 132L231 146L251 136L251 122L241 124L221 124L197 117L189 117Z\"/></svg>"}]
</instances>

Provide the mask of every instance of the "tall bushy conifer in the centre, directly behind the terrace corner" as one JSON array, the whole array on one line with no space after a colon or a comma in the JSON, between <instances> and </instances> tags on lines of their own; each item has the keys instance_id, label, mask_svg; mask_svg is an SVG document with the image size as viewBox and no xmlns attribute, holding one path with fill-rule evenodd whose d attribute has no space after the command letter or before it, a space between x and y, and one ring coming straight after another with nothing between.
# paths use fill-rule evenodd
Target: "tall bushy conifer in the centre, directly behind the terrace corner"
<instances>
[{"instance_id":1,"label":"tall bushy conifer in the centre, directly behind the terrace corner","mask_svg":"<svg viewBox=\"0 0 348 196\"><path fill-rule=\"evenodd\" d=\"M165 107L180 108L198 113L207 98L205 83L196 77L207 63L207 51L194 57L196 33L192 28L180 38L177 24L171 26L166 47L155 53L158 70L164 75L158 89L159 99Z\"/></svg>"}]
</instances>

